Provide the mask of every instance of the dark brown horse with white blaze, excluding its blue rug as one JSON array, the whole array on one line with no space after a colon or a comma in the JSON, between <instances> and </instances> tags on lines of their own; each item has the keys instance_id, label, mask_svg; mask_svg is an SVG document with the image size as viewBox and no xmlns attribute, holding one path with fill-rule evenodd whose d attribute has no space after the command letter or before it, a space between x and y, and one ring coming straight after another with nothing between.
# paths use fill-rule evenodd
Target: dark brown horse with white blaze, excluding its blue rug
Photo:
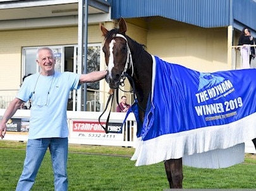
<instances>
[{"instance_id":1,"label":"dark brown horse with white blaze, excluding its blue rug","mask_svg":"<svg viewBox=\"0 0 256 191\"><path fill-rule=\"evenodd\" d=\"M152 55L145 47L126 35L126 21L119 20L119 28L107 30L100 23L105 38L102 50L107 66L106 81L115 90L127 77L138 101L137 123L143 123L150 93L152 93ZM256 139L253 139L256 148ZM164 161L170 188L182 188L183 160L169 158Z\"/></svg>"}]
</instances>

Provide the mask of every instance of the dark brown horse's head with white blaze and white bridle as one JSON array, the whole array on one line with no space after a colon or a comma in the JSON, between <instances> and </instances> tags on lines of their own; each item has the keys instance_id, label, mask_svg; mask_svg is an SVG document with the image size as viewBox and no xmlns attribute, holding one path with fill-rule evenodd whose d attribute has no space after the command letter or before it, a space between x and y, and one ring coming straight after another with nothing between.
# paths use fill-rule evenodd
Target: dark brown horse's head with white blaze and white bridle
<instances>
[{"instance_id":1,"label":"dark brown horse's head with white blaze and white bridle","mask_svg":"<svg viewBox=\"0 0 256 191\"><path fill-rule=\"evenodd\" d=\"M105 37L102 48L107 65L106 81L110 88L118 88L120 81L125 78L125 72L132 66L130 48L125 35L126 23L123 18L119 21L119 29L107 30L101 25Z\"/></svg>"}]
</instances>

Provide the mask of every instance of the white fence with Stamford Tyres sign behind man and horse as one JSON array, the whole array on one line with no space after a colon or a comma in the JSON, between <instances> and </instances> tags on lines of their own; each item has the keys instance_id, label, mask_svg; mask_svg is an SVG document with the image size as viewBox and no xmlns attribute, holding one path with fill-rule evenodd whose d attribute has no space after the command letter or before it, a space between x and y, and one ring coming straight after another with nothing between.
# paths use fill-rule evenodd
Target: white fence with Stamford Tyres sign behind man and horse
<instances>
[{"instance_id":1,"label":"white fence with Stamford Tyres sign behind man and horse","mask_svg":"<svg viewBox=\"0 0 256 191\"><path fill-rule=\"evenodd\" d=\"M0 109L2 117L4 110ZM69 142L73 144L90 144L105 146L130 146L135 148L137 140L137 122L133 113L128 116L125 125L123 120L126 113L111 112L109 119L110 132L108 134L99 125L101 112L71 112L68 111ZM101 118L106 123L107 114ZM29 130L30 110L18 110L12 120L8 122L9 131L5 140L27 141ZM16 130L16 131L15 131Z\"/></svg>"}]
</instances>

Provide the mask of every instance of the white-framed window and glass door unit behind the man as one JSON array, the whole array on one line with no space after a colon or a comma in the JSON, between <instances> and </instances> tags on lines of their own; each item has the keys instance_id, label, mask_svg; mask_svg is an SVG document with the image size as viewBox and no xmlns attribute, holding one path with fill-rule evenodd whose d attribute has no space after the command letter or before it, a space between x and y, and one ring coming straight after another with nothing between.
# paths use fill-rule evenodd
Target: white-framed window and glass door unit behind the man
<instances>
[{"instance_id":1,"label":"white-framed window and glass door unit behind the man","mask_svg":"<svg viewBox=\"0 0 256 191\"><path fill-rule=\"evenodd\" d=\"M56 57L55 70L59 72L70 71L77 72L77 45L54 46L49 47L53 50ZM38 47L23 48L23 72L21 78L27 74L34 74L40 71L36 62L36 54ZM90 44L87 49L87 72L99 71L100 69L100 52L101 44ZM82 90L82 95L84 95ZM78 101L80 100L80 101ZM78 98L76 91L71 91L68 100L68 110L76 110L77 104L82 103L83 96ZM99 103L99 81L95 83L87 83L87 102L88 111L99 111L101 105Z\"/></svg>"}]
</instances>

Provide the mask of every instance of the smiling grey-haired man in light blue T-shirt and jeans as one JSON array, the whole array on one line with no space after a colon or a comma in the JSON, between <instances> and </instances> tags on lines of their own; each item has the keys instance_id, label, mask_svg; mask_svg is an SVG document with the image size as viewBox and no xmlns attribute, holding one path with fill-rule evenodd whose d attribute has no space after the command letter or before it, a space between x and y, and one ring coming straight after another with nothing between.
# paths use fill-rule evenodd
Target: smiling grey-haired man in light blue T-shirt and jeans
<instances>
[{"instance_id":1,"label":"smiling grey-haired man in light blue T-shirt and jeans","mask_svg":"<svg viewBox=\"0 0 256 191\"><path fill-rule=\"evenodd\" d=\"M71 90L82 83L103 79L106 71L88 74L54 71L55 57L51 49L37 51L37 64L41 72L28 76L21 85L16 98L11 101L0 124L0 137L6 134L6 122L23 102L31 100L30 130L26 158L17 191L30 190L47 148L51 153L55 190L68 190L68 124L66 107Z\"/></svg>"}]
</instances>

